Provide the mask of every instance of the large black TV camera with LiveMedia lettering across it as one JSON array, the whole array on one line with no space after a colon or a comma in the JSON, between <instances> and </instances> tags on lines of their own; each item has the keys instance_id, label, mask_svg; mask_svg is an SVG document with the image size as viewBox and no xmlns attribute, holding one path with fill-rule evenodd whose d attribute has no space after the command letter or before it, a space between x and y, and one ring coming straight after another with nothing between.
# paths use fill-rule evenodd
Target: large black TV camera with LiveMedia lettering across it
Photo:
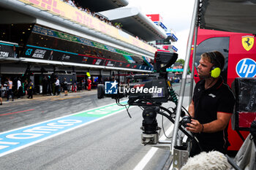
<instances>
[{"instance_id":1,"label":"large black TV camera with LiveMedia lettering across it","mask_svg":"<svg viewBox=\"0 0 256 170\"><path fill-rule=\"evenodd\" d=\"M177 53L166 53L157 51L154 55L154 71L151 74L133 74L127 76L129 80L139 82L132 82L128 85L120 85L118 82L105 82L105 85L97 86L98 98L113 98L120 106L138 106L143 109L143 123L141 134L142 144L157 144L159 141L159 128L157 124L157 114L167 117L172 123L175 122L176 105L178 99L172 84L167 80L166 69L173 65L178 58ZM114 88L116 87L116 88ZM127 97L127 105L120 104L121 98ZM162 103L172 101L175 104L174 108L162 107ZM183 108L181 116L184 116ZM128 112L128 109L127 109ZM129 112L128 112L129 115ZM129 115L129 117L131 117ZM179 129L187 136L190 136L181 125L185 127L187 122L181 121ZM191 138L191 136L190 136Z\"/></svg>"}]
</instances>

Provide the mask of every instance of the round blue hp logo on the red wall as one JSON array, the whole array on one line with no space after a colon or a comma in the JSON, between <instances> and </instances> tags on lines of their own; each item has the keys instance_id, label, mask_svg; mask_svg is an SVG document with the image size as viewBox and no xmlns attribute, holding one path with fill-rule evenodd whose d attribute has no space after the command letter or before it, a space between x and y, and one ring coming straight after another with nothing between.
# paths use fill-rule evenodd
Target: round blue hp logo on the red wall
<instances>
[{"instance_id":1,"label":"round blue hp logo on the red wall","mask_svg":"<svg viewBox=\"0 0 256 170\"><path fill-rule=\"evenodd\" d=\"M239 77L255 77L256 62L251 58L244 58L236 65L236 73Z\"/></svg>"}]
</instances>

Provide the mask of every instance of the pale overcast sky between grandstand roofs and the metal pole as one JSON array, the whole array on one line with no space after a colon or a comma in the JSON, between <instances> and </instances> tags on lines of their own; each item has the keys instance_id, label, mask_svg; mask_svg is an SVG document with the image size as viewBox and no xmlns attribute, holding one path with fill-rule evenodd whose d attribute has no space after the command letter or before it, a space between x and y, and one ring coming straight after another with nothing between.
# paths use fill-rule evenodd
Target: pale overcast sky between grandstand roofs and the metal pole
<instances>
[{"instance_id":1,"label":"pale overcast sky between grandstand roofs and the metal pole","mask_svg":"<svg viewBox=\"0 0 256 170\"><path fill-rule=\"evenodd\" d=\"M167 28L178 38L178 58L185 58L189 28L195 0L127 0L129 6L138 7L144 14L159 14Z\"/></svg>"}]
</instances>

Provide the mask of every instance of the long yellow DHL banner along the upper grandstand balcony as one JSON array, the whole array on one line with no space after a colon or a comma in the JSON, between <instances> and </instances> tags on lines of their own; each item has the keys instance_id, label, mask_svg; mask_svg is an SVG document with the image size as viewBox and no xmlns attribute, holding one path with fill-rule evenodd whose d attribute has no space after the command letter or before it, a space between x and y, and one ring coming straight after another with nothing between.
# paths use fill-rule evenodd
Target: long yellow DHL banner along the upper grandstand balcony
<instances>
[{"instance_id":1,"label":"long yellow DHL banner along the upper grandstand balcony","mask_svg":"<svg viewBox=\"0 0 256 170\"><path fill-rule=\"evenodd\" d=\"M82 26L86 26L87 28L94 29L96 31L100 31L103 34L108 36L112 36L113 38L120 39L121 41L127 42L131 45L135 45L137 47L142 48L143 50L147 50L151 53L155 53L156 48L148 45L139 39L136 39L134 36L130 36L126 34L120 34L120 30L116 27L108 25L108 23L104 23L98 18L94 18L86 12L80 11L79 9L70 6L69 4L64 3L59 0L18 0L22 1L27 5L31 5L33 7L37 7L44 11L50 12L53 15L59 15L61 18L65 18L67 20L71 20L72 22L78 23Z\"/></svg>"}]
</instances>

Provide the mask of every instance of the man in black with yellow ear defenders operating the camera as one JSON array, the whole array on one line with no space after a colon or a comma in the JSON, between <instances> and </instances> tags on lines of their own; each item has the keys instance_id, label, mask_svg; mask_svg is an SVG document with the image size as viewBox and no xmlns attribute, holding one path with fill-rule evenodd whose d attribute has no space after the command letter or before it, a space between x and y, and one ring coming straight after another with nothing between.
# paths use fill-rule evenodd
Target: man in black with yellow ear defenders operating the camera
<instances>
[{"instance_id":1,"label":"man in black with yellow ear defenders operating the camera","mask_svg":"<svg viewBox=\"0 0 256 170\"><path fill-rule=\"evenodd\" d=\"M232 91L219 75L225 58L218 51L203 53L199 63L197 71L200 81L195 85L192 102L189 104L192 121L187 123L187 130L195 133L199 144L192 141L189 156L211 150L225 153L230 145L227 125L235 104Z\"/></svg>"}]
</instances>

